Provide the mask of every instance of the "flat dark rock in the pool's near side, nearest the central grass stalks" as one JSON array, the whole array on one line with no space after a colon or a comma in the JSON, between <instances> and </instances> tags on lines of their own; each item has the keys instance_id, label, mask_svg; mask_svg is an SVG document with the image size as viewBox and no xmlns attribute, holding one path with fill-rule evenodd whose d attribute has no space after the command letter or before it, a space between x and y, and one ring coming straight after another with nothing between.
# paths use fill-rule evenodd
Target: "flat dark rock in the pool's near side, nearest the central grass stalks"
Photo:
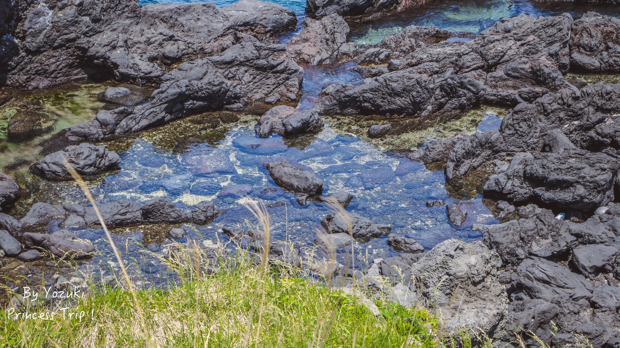
<instances>
[{"instance_id":1,"label":"flat dark rock in the pool's near side, nearest the central grass stalks","mask_svg":"<svg viewBox=\"0 0 620 348\"><path fill-rule=\"evenodd\" d=\"M381 237L392 230L388 225L375 224L354 212L346 216L340 213L329 214L321 220L321 225L330 233L353 233L353 237L363 239Z\"/></svg>"}]
</instances>

